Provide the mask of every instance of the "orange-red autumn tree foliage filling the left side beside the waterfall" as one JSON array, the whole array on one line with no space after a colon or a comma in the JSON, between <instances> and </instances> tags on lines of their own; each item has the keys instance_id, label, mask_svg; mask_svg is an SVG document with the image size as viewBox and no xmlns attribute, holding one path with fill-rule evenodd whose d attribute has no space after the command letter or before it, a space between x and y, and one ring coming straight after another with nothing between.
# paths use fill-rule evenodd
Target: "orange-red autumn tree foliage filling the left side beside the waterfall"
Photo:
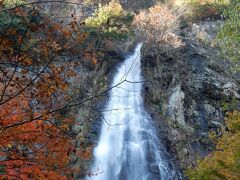
<instances>
[{"instance_id":1,"label":"orange-red autumn tree foliage filling the left side beside the waterfall","mask_svg":"<svg viewBox=\"0 0 240 180\"><path fill-rule=\"evenodd\" d=\"M63 57L75 56L87 35L74 17L66 25L34 4L1 3L0 16L0 179L69 179L79 171L71 154L90 154L73 144L80 103L69 89L78 62Z\"/></svg>"}]
</instances>

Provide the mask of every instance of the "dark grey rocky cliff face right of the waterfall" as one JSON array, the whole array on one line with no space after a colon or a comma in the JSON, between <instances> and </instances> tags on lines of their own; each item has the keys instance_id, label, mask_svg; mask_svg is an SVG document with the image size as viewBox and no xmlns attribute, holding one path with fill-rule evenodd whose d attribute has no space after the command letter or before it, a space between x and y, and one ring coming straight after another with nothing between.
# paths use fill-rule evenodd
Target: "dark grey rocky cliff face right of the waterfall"
<instances>
[{"instance_id":1,"label":"dark grey rocky cliff face right of the waterfall","mask_svg":"<svg viewBox=\"0 0 240 180\"><path fill-rule=\"evenodd\" d=\"M194 35L199 27L211 40L211 26L203 25L183 30L183 46L172 53L150 55L146 47L143 50L146 107L182 169L213 150L208 133L220 135L225 110L229 105L239 108L239 81L227 73L217 50Z\"/></svg>"}]
</instances>

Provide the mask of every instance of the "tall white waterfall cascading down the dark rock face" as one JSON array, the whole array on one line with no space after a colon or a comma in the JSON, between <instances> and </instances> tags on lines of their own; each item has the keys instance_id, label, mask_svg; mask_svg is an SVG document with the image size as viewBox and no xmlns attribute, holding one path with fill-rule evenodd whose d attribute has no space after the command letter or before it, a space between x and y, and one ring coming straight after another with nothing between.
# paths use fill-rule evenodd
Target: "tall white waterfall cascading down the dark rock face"
<instances>
[{"instance_id":1,"label":"tall white waterfall cascading down the dark rock face","mask_svg":"<svg viewBox=\"0 0 240 180\"><path fill-rule=\"evenodd\" d=\"M87 179L178 179L144 110L141 47L137 45L113 79L99 143L94 149L94 175Z\"/></svg>"}]
</instances>

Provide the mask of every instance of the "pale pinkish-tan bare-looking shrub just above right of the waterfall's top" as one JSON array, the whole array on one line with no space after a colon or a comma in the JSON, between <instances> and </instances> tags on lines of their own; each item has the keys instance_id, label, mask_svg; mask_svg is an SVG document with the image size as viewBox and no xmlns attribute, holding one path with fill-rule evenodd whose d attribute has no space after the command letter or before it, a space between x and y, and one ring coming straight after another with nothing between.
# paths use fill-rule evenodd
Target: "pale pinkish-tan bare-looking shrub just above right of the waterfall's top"
<instances>
[{"instance_id":1,"label":"pale pinkish-tan bare-looking shrub just above right of the waterfall's top","mask_svg":"<svg viewBox=\"0 0 240 180\"><path fill-rule=\"evenodd\" d=\"M183 9L181 9L183 10ZM183 11L173 11L168 6L157 4L141 11L134 20L137 33L155 45L155 52L167 52L181 45L177 33Z\"/></svg>"}]
</instances>

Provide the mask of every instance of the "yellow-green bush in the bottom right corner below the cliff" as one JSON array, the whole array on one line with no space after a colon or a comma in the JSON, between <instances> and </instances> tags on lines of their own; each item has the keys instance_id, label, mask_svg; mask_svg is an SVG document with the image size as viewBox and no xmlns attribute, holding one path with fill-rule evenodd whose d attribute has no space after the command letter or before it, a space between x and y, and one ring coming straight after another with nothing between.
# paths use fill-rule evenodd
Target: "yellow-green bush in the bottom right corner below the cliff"
<instances>
[{"instance_id":1,"label":"yellow-green bush in the bottom right corner below the cliff","mask_svg":"<svg viewBox=\"0 0 240 180\"><path fill-rule=\"evenodd\" d=\"M240 177L240 112L227 114L228 132L216 139L216 150L203 160L199 160L195 168L189 168L190 180L239 179Z\"/></svg>"}]
</instances>

